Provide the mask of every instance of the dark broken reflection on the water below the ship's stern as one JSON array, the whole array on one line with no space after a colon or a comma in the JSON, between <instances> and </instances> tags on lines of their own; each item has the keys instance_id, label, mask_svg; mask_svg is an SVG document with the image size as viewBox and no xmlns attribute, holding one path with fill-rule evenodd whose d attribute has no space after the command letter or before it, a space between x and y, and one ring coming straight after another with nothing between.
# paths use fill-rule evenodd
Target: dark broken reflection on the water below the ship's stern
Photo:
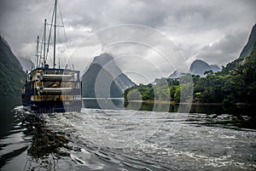
<instances>
[{"instance_id":1,"label":"dark broken reflection on the water below the ship's stern","mask_svg":"<svg viewBox=\"0 0 256 171\"><path fill-rule=\"evenodd\" d=\"M31 125L26 128L31 129L32 140L26 151L26 164L23 170L55 170L59 158L70 155L61 150L68 143L64 133L55 133L47 128L44 120L38 116L28 115L24 118L26 123Z\"/></svg>"}]
</instances>

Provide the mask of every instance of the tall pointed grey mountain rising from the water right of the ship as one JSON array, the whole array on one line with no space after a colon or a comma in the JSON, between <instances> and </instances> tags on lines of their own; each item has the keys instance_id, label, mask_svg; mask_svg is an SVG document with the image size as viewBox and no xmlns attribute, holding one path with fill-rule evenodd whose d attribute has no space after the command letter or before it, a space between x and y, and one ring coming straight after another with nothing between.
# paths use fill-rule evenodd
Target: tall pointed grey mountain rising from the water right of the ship
<instances>
[{"instance_id":1,"label":"tall pointed grey mountain rising from the water right of the ship","mask_svg":"<svg viewBox=\"0 0 256 171\"><path fill-rule=\"evenodd\" d=\"M96 56L82 77L82 96L86 98L123 97L124 90L136 85L116 66L111 54Z\"/></svg>"}]
</instances>

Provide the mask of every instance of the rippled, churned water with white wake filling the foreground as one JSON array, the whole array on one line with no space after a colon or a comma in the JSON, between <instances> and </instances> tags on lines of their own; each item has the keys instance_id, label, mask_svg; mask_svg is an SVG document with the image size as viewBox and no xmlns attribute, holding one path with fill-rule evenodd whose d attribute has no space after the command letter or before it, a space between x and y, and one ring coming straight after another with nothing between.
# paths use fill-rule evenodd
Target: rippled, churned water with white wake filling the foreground
<instances>
[{"instance_id":1,"label":"rippled, churned water with white wake filling the foreground","mask_svg":"<svg viewBox=\"0 0 256 171\"><path fill-rule=\"evenodd\" d=\"M83 109L33 117L16 106L3 170L253 170L254 117Z\"/></svg>"}]
</instances>

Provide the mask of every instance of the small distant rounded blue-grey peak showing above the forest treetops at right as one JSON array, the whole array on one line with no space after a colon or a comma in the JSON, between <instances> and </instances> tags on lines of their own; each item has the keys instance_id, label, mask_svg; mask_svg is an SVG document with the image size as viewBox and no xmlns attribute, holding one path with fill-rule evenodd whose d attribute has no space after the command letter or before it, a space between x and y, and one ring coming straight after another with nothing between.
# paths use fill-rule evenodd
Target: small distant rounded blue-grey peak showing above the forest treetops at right
<instances>
[{"instance_id":1,"label":"small distant rounded blue-grey peak showing above the forest treetops at right","mask_svg":"<svg viewBox=\"0 0 256 171\"><path fill-rule=\"evenodd\" d=\"M203 60L195 60L190 65L189 71L193 75L199 75L201 77L204 76L205 71L213 72L220 71L220 68L217 65L209 65L207 62Z\"/></svg>"}]
</instances>

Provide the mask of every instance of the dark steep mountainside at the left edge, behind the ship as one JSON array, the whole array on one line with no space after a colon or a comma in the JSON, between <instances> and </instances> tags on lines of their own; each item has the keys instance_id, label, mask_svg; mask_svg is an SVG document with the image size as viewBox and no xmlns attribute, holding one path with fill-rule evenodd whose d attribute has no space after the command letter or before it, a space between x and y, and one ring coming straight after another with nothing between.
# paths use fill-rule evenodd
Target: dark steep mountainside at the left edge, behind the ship
<instances>
[{"instance_id":1,"label":"dark steep mountainside at the left edge, behind the ship","mask_svg":"<svg viewBox=\"0 0 256 171\"><path fill-rule=\"evenodd\" d=\"M19 60L0 36L0 96L20 96L25 79Z\"/></svg>"}]
</instances>

